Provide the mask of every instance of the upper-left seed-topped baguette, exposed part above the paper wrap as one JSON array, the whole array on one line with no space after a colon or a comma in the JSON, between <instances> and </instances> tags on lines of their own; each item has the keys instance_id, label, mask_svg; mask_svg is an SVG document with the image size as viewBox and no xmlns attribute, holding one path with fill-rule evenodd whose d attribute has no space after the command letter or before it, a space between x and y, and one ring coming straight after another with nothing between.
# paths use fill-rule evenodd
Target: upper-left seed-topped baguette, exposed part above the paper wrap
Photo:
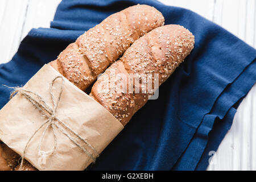
<instances>
[{"instance_id":1,"label":"upper-left seed-topped baguette, exposed part above the paper wrap","mask_svg":"<svg viewBox=\"0 0 256 182\"><path fill-rule=\"evenodd\" d=\"M128 7L90 28L49 64L86 90L135 40L163 24L163 15L154 7Z\"/></svg>"}]
</instances>

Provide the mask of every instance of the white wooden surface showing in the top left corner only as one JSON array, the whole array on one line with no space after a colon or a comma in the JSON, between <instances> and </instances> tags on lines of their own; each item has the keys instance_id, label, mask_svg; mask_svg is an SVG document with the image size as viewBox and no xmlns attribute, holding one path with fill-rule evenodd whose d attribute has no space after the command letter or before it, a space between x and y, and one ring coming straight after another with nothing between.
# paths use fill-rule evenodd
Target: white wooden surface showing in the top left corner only
<instances>
[{"instance_id":1,"label":"white wooden surface showing in the top left corner only","mask_svg":"<svg viewBox=\"0 0 256 182\"><path fill-rule=\"evenodd\" d=\"M0 1L0 63L9 61L31 28L49 27L60 0Z\"/></svg>"}]
</instances>

